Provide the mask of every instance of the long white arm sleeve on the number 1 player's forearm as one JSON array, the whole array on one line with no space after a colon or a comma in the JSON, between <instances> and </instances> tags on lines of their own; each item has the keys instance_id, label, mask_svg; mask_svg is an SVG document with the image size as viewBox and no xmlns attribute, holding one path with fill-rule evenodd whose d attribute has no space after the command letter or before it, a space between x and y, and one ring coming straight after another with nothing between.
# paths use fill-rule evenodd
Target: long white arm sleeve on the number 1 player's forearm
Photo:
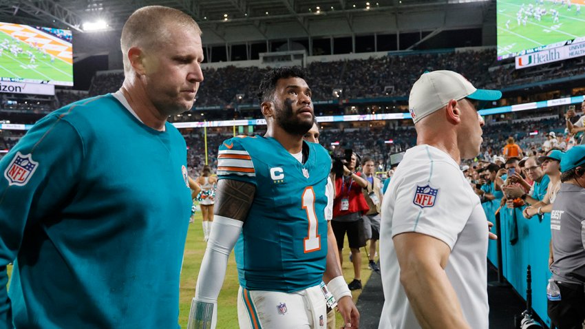
<instances>
[{"instance_id":1,"label":"long white arm sleeve on the number 1 player's forearm","mask_svg":"<svg viewBox=\"0 0 585 329\"><path fill-rule=\"evenodd\" d=\"M240 237L243 225L244 222L240 220L219 215L213 216L213 230L207 242L197 286L195 286L195 299L198 301L208 303L217 301L224 283L228 257L237 238Z\"/></svg>"}]
</instances>

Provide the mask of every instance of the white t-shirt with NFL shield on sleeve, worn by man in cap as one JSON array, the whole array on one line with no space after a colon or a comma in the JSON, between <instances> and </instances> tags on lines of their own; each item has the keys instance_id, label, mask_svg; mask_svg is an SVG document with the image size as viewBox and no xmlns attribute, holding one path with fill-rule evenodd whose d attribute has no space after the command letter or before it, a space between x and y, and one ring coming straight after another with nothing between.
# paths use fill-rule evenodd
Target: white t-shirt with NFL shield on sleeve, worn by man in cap
<instances>
[{"instance_id":1,"label":"white t-shirt with NFL shield on sleeve, worn by man in cap","mask_svg":"<svg viewBox=\"0 0 585 329\"><path fill-rule=\"evenodd\" d=\"M392 237L416 232L451 248L445 273L471 328L487 329L487 218L478 195L447 153L429 145L406 151L382 203L380 329L421 328L400 283Z\"/></svg>"}]
</instances>

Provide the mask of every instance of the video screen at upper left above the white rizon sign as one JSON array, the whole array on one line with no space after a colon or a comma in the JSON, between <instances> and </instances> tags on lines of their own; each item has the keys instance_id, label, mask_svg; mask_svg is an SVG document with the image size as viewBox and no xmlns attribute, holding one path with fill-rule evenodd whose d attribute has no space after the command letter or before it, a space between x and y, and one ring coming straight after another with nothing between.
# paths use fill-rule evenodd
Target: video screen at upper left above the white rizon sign
<instances>
[{"instance_id":1,"label":"video screen at upper left above the white rizon sign","mask_svg":"<svg viewBox=\"0 0 585 329\"><path fill-rule=\"evenodd\" d=\"M0 23L0 78L72 86L71 31Z\"/></svg>"}]
</instances>

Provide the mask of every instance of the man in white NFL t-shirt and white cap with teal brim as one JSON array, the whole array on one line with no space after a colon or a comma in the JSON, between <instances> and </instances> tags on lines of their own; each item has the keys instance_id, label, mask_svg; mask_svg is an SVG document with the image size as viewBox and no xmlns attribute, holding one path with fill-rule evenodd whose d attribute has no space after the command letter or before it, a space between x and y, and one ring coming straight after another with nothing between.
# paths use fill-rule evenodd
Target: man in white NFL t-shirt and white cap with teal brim
<instances>
[{"instance_id":1,"label":"man in white NFL t-shirt and white cap with teal brim","mask_svg":"<svg viewBox=\"0 0 585 329\"><path fill-rule=\"evenodd\" d=\"M483 121L474 103L501 96L451 71L414 83L417 145L382 204L379 328L488 328L487 219L459 162L480 151Z\"/></svg>"}]
</instances>

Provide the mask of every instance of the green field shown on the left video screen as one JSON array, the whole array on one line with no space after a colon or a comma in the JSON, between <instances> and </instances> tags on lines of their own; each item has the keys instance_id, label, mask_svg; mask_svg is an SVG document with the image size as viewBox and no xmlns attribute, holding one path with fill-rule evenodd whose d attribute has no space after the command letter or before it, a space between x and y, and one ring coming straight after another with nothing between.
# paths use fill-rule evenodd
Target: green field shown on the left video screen
<instances>
[{"instance_id":1,"label":"green field shown on the left video screen","mask_svg":"<svg viewBox=\"0 0 585 329\"><path fill-rule=\"evenodd\" d=\"M34 80L62 81L73 83L73 65L54 56L43 54L34 47L20 40L12 39L8 34L0 32L0 44L7 39L9 45L17 45L23 52L14 56L8 49L2 51L0 56L0 76L6 78L25 78ZM26 51L35 56L35 63L31 63ZM43 56L44 55L44 56Z\"/></svg>"}]
</instances>

